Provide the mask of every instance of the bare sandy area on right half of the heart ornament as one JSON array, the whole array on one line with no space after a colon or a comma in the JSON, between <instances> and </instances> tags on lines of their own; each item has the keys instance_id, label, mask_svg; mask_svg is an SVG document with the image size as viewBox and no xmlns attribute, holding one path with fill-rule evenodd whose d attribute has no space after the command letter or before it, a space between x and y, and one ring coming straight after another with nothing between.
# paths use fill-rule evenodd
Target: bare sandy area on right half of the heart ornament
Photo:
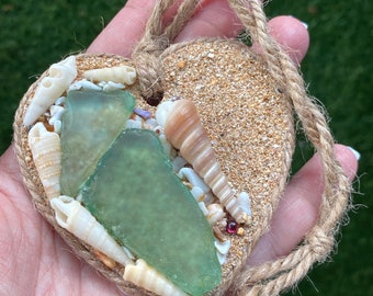
<instances>
[{"instance_id":1,"label":"bare sandy area on right half of the heart ornament","mask_svg":"<svg viewBox=\"0 0 373 296\"><path fill-rule=\"evenodd\" d=\"M225 278L230 278L258 234L268 229L281 197L293 152L292 111L260 57L241 43L176 45L163 65L165 96L195 103L229 181L250 194L252 217L245 235L225 235L233 241L223 266Z\"/></svg>"}]
</instances>

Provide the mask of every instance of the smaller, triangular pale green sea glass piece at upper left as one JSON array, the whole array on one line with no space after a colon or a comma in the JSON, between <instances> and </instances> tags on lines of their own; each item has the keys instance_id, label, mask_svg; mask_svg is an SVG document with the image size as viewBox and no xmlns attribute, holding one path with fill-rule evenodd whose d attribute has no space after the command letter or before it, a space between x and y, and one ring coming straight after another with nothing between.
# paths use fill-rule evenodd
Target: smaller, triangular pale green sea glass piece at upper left
<instances>
[{"instance_id":1,"label":"smaller, triangular pale green sea glass piece at upper left","mask_svg":"<svg viewBox=\"0 0 373 296\"><path fill-rule=\"evenodd\" d=\"M128 91L68 92L60 136L63 194L77 195L99 159L123 130L134 107L135 98Z\"/></svg>"}]
</instances>

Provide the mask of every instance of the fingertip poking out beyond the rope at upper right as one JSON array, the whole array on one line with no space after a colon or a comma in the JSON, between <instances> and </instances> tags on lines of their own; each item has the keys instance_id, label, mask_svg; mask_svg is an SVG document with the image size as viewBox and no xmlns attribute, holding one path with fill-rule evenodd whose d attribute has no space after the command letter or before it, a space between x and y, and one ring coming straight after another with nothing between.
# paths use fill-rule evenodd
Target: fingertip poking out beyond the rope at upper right
<instances>
[{"instance_id":1,"label":"fingertip poking out beyond the rope at upper right","mask_svg":"<svg viewBox=\"0 0 373 296\"><path fill-rule=\"evenodd\" d=\"M301 64L309 46L309 34L305 23L293 16L276 16L268 23L270 34L287 52L296 64Z\"/></svg>"}]
</instances>

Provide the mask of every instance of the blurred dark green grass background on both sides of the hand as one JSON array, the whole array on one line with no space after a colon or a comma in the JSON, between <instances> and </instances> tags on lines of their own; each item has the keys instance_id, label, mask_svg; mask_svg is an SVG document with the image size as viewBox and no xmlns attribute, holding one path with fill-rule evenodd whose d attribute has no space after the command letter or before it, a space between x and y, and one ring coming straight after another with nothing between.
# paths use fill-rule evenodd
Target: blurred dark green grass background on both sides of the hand
<instances>
[{"instance_id":1,"label":"blurred dark green grass background on both sides of the hand","mask_svg":"<svg viewBox=\"0 0 373 296\"><path fill-rule=\"evenodd\" d=\"M0 3L0 152L11 143L19 100L48 66L84 50L125 1L2 0ZM310 48L302 65L309 92L331 118L339 143L362 155L354 204L337 253L315 266L296 295L373 295L373 5L371 0L274 0L269 16L291 14L309 25ZM298 168L312 153L299 137ZM1 169L1 168L0 168Z\"/></svg>"}]
</instances>

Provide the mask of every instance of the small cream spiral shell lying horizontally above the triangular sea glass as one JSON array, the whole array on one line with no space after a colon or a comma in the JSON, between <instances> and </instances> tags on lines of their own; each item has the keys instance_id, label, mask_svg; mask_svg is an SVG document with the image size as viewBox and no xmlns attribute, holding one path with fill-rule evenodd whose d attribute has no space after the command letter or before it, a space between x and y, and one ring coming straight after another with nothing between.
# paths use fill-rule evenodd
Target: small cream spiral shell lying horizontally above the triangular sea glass
<instances>
[{"instance_id":1,"label":"small cream spiral shell lying horizontally above the triangular sea glass","mask_svg":"<svg viewBox=\"0 0 373 296\"><path fill-rule=\"evenodd\" d=\"M129 66L116 66L100 69L91 69L83 72L83 77L88 80L113 81L115 83L134 84L136 80L136 70Z\"/></svg>"}]
</instances>

